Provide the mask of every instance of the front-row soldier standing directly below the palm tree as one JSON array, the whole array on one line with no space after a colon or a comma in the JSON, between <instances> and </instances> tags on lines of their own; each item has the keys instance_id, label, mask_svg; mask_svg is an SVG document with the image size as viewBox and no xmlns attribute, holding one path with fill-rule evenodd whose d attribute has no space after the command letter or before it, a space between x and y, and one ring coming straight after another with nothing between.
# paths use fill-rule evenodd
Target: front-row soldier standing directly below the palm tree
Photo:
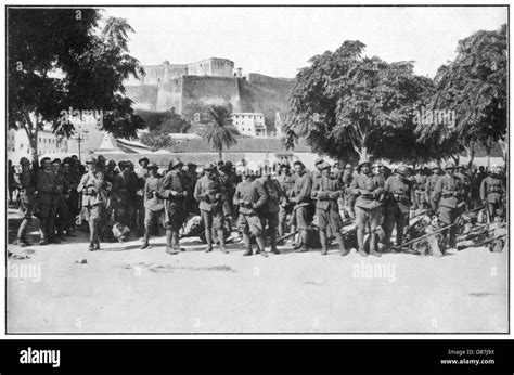
<instances>
[{"instance_id":1,"label":"front-row soldier standing directly below the palm tree","mask_svg":"<svg viewBox=\"0 0 514 375\"><path fill-rule=\"evenodd\" d=\"M206 253L213 251L213 231L216 231L221 245L221 253L228 254L224 248L224 218L221 203L222 192L215 173L214 163L204 166L205 176L194 188L194 198L200 202L200 212L205 227Z\"/></svg>"}]
</instances>

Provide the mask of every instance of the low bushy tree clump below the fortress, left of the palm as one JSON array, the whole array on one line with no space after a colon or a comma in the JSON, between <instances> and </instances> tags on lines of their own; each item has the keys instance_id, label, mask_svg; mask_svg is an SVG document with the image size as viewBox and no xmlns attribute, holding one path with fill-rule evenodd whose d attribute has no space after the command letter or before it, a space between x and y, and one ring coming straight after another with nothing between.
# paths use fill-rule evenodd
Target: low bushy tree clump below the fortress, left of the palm
<instances>
[{"instance_id":1,"label":"low bushy tree clump below the fortress, left of the palm","mask_svg":"<svg viewBox=\"0 0 514 375\"><path fill-rule=\"evenodd\" d=\"M138 115L145 121L149 129L139 139L152 151L172 146L176 142L169 137L170 133L185 133L191 127L191 122L177 114L175 108L166 112L141 111Z\"/></svg>"}]
</instances>

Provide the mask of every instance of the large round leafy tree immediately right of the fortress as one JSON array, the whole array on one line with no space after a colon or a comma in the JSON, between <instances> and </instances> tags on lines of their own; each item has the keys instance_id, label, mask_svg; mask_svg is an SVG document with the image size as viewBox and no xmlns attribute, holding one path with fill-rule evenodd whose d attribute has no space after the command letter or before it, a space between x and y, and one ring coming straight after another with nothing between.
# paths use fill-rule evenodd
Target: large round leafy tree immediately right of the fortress
<instances>
[{"instance_id":1,"label":"large round leafy tree immediately right of the fortress","mask_svg":"<svg viewBox=\"0 0 514 375\"><path fill-rule=\"evenodd\" d=\"M284 126L288 148L305 138L313 152L336 159L415 156L413 109L432 82L413 74L412 62L362 57L364 47L345 41L298 73ZM410 142L382 146L406 133Z\"/></svg>"}]
</instances>

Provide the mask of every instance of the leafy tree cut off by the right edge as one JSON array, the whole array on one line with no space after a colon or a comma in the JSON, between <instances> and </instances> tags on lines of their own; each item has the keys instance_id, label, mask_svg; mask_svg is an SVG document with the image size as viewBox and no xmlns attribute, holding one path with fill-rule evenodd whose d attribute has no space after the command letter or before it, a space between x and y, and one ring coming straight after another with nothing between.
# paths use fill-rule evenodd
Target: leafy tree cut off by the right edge
<instances>
[{"instance_id":1,"label":"leafy tree cut off by the right edge","mask_svg":"<svg viewBox=\"0 0 514 375\"><path fill-rule=\"evenodd\" d=\"M506 25L499 30L473 34L460 40L458 56L437 70L431 109L452 111L455 124L419 127L421 139L452 140L470 155L476 144L488 155L494 142L503 147L506 138ZM505 155L505 153L504 153Z\"/></svg>"}]
</instances>

